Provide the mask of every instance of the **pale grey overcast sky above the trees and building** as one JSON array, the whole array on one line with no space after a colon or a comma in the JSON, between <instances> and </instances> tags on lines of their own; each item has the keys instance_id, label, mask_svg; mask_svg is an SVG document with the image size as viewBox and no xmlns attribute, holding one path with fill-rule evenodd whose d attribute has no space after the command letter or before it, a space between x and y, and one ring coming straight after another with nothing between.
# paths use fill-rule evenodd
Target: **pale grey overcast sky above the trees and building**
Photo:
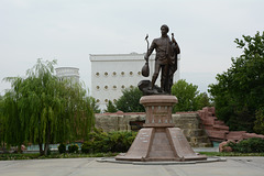
<instances>
[{"instance_id":1,"label":"pale grey overcast sky above the trees and building","mask_svg":"<svg viewBox=\"0 0 264 176\"><path fill-rule=\"evenodd\" d=\"M180 78L206 91L238 57L234 38L264 29L263 0L0 0L2 81L37 58L78 67L90 87L89 54L144 53L167 24L178 42Z\"/></svg>"}]
</instances>

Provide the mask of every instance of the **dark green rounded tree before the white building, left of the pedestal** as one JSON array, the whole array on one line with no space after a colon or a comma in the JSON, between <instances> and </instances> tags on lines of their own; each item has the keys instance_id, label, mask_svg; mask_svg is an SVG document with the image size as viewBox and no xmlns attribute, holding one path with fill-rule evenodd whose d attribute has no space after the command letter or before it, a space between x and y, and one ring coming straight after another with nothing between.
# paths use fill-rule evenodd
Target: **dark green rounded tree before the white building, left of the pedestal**
<instances>
[{"instance_id":1,"label":"dark green rounded tree before the white building, left of the pedestal","mask_svg":"<svg viewBox=\"0 0 264 176\"><path fill-rule=\"evenodd\" d=\"M117 109L123 112L144 112L145 109L140 105L140 99L143 96L138 87L124 89L122 96L117 100Z\"/></svg>"}]
</instances>

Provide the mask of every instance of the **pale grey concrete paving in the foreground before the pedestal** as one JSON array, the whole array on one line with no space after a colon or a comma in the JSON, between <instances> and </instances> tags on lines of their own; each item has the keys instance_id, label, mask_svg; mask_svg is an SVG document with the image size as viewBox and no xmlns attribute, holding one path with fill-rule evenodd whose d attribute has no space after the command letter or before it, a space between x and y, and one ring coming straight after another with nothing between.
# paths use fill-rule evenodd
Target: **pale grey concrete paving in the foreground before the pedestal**
<instances>
[{"instance_id":1,"label":"pale grey concrete paving in the foreground before the pedestal","mask_svg":"<svg viewBox=\"0 0 264 176\"><path fill-rule=\"evenodd\" d=\"M0 176L263 176L264 157L186 165L98 163L97 158L0 161Z\"/></svg>"}]
</instances>

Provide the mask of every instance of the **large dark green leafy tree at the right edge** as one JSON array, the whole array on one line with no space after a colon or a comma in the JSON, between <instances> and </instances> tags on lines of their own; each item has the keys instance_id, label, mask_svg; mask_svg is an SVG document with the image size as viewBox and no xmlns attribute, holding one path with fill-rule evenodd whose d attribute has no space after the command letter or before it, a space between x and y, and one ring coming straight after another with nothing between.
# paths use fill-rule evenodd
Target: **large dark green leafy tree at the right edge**
<instances>
[{"instance_id":1,"label":"large dark green leafy tree at the right edge","mask_svg":"<svg viewBox=\"0 0 264 176\"><path fill-rule=\"evenodd\" d=\"M217 75L209 86L217 116L231 130L253 132L256 111L264 107L264 32L235 38L242 55L232 59L231 67Z\"/></svg>"}]
</instances>

